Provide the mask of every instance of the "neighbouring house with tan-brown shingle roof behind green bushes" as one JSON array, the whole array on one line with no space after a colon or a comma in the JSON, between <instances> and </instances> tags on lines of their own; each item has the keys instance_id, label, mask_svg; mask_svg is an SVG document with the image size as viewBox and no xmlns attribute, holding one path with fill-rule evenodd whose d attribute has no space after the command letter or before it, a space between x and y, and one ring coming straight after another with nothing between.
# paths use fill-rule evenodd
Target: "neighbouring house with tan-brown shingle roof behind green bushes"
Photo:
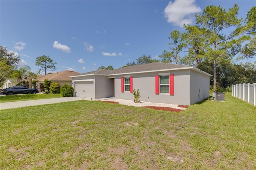
<instances>
[{"instance_id":1,"label":"neighbouring house with tan-brown shingle roof behind green bushes","mask_svg":"<svg viewBox=\"0 0 256 170\"><path fill-rule=\"evenodd\" d=\"M44 91L44 80L48 79L51 82L58 82L61 86L64 85L65 83L68 85L72 85L72 78L70 76L78 75L81 73L78 73L76 71L60 71L57 73L52 73L48 75L37 75L37 89L39 89L39 92Z\"/></svg>"}]
</instances>

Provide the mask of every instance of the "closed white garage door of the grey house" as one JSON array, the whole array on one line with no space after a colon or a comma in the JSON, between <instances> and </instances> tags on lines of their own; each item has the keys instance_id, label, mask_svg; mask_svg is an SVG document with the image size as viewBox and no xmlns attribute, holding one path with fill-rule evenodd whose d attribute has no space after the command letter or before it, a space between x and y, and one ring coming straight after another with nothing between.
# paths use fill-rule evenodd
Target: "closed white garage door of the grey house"
<instances>
[{"instance_id":1,"label":"closed white garage door of the grey house","mask_svg":"<svg viewBox=\"0 0 256 170\"><path fill-rule=\"evenodd\" d=\"M78 84L79 83L79 84ZM94 99L94 86L92 81L76 82L76 96Z\"/></svg>"}]
</instances>

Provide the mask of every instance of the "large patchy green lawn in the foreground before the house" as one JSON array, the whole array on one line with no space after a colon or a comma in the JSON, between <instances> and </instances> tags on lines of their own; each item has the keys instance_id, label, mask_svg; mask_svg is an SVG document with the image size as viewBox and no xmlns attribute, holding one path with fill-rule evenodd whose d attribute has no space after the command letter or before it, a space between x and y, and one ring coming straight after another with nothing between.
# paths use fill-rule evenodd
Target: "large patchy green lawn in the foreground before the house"
<instances>
[{"instance_id":1,"label":"large patchy green lawn in the foreground before the house","mask_svg":"<svg viewBox=\"0 0 256 170\"><path fill-rule=\"evenodd\" d=\"M73 101L1 110L0 169L256 169L256 107Z\"/></svg>"}]
</instances>

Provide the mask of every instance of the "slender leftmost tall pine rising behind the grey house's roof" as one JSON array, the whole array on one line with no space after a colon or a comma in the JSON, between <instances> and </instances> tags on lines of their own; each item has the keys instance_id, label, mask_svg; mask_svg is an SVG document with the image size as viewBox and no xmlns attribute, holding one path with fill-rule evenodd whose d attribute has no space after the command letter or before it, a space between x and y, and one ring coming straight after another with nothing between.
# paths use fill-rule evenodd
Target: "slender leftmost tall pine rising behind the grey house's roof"
<instances>
[{"instance_id":1,"label":"slender leftmost tall pine rising behind the grey house's roof","mask_svg":"<svg viewBox=\"0 0 256 170\"><path fill-rule=\"evenodd\" d=\"M178 64L180 59L180 51L184 48L184 40L182 34L178 30L174 30L170 33L169 39L172 39L173 42L168 43L169 45L174 45L174 47L170 47L170 57L173 58L174 63Z\"/></svg>"}]
</instances>

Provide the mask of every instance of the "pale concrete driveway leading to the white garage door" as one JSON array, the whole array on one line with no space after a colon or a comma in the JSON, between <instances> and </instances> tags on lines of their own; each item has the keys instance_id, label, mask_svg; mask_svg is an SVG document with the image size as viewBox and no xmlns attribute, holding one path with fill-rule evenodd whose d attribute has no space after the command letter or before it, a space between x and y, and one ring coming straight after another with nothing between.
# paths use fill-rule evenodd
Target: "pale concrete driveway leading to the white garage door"
<instances>
[{"instance_id":1,"label":"pale concrete driveway leading to the white garage door","mask_svg":"<svg viewBox=\"0 0 256 170\"><path fill-rule=\"evenodd\" d=\"M17 107L45 105L45 104L61 103L61 102L67 102L67 101L78 101L78 100L86 100L86 99L82 97L60 97L60 98L54 98L54 99L14 101L14 102L0 103L0 109L1 110L12 109Z\"/></svg>"}]
</instances>

